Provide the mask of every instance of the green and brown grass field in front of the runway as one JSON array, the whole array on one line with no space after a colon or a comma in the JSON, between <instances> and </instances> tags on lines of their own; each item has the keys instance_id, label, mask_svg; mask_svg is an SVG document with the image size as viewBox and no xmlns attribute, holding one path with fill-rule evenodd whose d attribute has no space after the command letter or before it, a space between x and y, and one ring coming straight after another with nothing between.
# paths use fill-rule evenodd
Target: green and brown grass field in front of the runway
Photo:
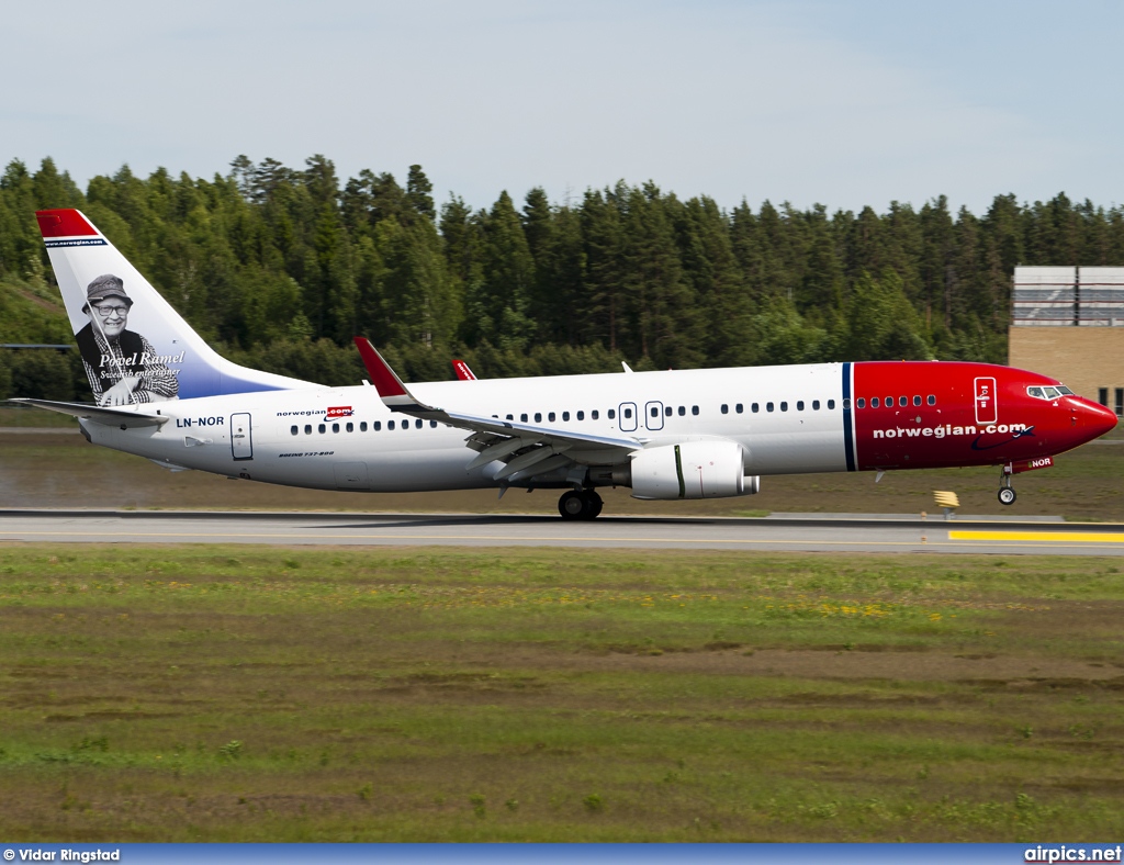
<instances>
[{"instance_id":1,"label":"green and brown grass field in front of the runway","mask_svg":"<svg viewBox=\"0 0 1124 865\"><path fill-rule=\"evenodd\" d=\"M0 547L0 837L1124 835L1093 558Z\"/></svg>"}]
</instances>

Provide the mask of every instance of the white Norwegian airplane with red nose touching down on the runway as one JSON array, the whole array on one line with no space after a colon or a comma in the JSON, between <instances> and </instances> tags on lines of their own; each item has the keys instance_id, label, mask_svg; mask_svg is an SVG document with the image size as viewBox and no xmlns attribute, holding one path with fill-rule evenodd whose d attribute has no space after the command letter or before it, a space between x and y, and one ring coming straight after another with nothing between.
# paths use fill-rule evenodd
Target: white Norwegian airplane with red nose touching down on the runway
<instances>
[{"instance_id":1,"label":"white Norwegian airplane with red nose touching down on the runway","mask_svg":"<svg viewBox=\"0 0 1124 865\"><path fill-rule=\"evenodd\" d=\"M769 475L992 466L1012 504L1013 475L1117 420L1055 379L967 362L407 385L356 337L370 383L329 388L220 357L80 211L36 217L96 402L21 401L172 470L369 492L554 489L580 520L606 486L711 499L752 495Z\"/></svg>"}]
</instances>

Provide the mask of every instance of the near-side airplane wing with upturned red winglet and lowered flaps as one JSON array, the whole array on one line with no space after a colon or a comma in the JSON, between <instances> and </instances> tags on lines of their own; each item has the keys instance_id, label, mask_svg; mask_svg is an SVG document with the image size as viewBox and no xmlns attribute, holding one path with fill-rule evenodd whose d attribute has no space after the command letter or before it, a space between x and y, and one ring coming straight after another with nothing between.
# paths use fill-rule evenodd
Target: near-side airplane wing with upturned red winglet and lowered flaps
<instances>
[{"instance_id":1,"label":"near-side airplane wing with upturned red winglet and lowered flaps","mask_svg":"<svg viewBox=\"0 0 1124 865\"><path fill-rule=\"evenodd\" d=\"M469 463L468 470L499 459L506 462L507 467L497 475L497 480L506 477L515 481L565 464L624 462L628 454L644 445L641 439L629 436L596 436L427 406L409 392L369 339L357 336L355 345L371 375L371 383L387 408L473 434L465 439L465 444L478 455Z\"/></svg>"}]
</instances>

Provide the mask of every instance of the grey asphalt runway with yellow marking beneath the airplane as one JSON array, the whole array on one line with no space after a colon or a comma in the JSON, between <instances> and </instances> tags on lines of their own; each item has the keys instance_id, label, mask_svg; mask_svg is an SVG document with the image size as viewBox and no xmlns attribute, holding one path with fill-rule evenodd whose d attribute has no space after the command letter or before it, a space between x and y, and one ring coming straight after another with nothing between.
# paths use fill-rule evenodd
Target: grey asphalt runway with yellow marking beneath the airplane
<instances>
[{"instance_id":1,"label":"grey asphalt runway with yellow marking beneath the airplane","mask_svg":"<svg viewBox=\"0 0 1124 865\"><path fill-rule=\"evenodd\" d=\"M552 546L1124 555L1124 525L856 515L768 518L0 510L0 543Z\"/></svg>"}]
</instances>

